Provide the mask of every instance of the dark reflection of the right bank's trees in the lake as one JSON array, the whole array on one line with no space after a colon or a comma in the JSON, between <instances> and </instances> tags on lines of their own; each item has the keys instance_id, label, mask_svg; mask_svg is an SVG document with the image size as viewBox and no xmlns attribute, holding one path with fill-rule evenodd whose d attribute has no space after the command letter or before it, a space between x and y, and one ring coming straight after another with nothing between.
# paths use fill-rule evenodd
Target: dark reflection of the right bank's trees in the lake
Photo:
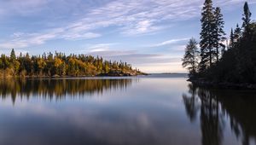
<instances>
[{"instance_id":1,"label":"dark reflection of the right bank's trees in the lake","mask_svg":"<svg viewBox=\"0 0 256 145\"><path fill-rule=\"evenodd\" d=\"M191 122L200 110L202 145L223 143L225 117L243 145L256 141L255 91L212 90L189 84L189 95L183 95L183 103Z\"/></svg>"}]
</instances>

